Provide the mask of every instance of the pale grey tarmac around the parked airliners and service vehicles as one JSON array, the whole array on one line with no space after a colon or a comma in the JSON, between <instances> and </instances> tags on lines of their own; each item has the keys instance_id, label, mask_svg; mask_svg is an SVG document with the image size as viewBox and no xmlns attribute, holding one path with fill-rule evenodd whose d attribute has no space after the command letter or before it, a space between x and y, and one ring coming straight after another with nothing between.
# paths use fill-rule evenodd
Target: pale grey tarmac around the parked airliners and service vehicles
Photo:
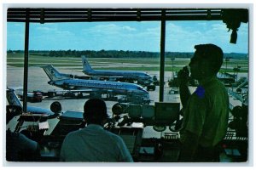
<instances>
[{"instance_id":1,"label":"pale grey tarmac around the parked airliners and service vehicles","mask_svg":"<svg viewBox=\"0 0 256 170\"><path fill-rule=\"evenodd\" d=\"M72 71L66 69L57 68L58 71L62 73L68 73L73 75L84 76L84 73L78 71ZM148 71L148 74L151 76L156 76L159 80L159 72L158 71ZM164 87L164 101L168 102L177 102L180 103L179 94L172 94L172 88L169 88L167 85L167 80L172 78L172 72L165 72L165 82L166 85ZM240 75L240 77L244 77L245 74ZM33 90L39 90L43 92L48 92L49 90L61 90L61 88L57 88L55 86L51 86L48 84L49 77L44 73L43 69L40 67L32 66L28 68L28 92L32 92ZM17 90L22 89L23 87L23 68L7 66L7 77L6 77L6 85L8 88L15 88ZM190 88L191 91L195 90L195 88ZM156 86L155 91L149 91L149 97L152 100L149 105L154 105L154 102L159 101L159 86ZM61 103L62 111L83 111L84 102L87 99L58 99ZM54 99L43 99L42 102L31 103L28 102L27 105L38 106L42 108L49 109L49 106L54 102ZM241 105L241 102L233 99L230 96L231 105ZM106 101L108 107L108 115L112 116L112 106L116 104L117 101ZM153 127L144 127L143 138L161 138L171 131L166 128L165 131L159 133L153 130Z\"/></svg>"}]
</instances>

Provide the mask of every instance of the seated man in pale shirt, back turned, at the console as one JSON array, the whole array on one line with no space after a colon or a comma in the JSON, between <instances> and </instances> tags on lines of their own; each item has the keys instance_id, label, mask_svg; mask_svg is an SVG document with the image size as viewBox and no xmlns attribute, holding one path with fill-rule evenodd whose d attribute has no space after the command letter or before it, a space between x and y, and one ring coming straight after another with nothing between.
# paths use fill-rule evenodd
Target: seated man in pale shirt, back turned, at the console
<instances>
[{"instance_id":1,"label":"seated man in pale shirt, back turned, at the console","mask_svg":"<svg viewBox=\"0 0 256 170\"><path fill-rule=\"evenodd\" d=\"M84 104L87 127L68 133L61 146L61 161L133 161L123 139L103 129L108 118L102 99Z\"/></svg>"}]
</instances>

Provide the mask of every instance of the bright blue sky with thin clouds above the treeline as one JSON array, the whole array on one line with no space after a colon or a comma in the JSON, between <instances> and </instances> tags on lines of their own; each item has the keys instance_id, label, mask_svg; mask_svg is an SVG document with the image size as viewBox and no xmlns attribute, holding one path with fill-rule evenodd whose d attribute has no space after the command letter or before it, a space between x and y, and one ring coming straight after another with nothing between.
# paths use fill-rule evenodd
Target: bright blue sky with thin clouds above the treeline
<instances>
[{"instance_id":1,"label":"bright blue sky with thin clouds above the treeline","mask_svg":"<svg viewBox=\"0 0 256 170\"><path fill-rule=\"evenodd\" d=\"M248 24L241 23L236 44L222 21L166 21L166 51L194 52L214 43L224 53L248 51ZM7 23L7 50L23 50L25 24ZM131 50L160 52L160 21L30 24L30 50Z\"/></svg>"}]
</instances>

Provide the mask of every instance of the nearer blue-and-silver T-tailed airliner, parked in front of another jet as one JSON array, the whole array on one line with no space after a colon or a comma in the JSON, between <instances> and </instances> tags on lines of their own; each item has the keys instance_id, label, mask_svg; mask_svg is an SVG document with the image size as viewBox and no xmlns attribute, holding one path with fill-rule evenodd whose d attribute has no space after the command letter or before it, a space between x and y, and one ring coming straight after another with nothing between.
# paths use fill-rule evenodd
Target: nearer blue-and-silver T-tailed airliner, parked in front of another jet
<instances>
[{"instance_id":1,"label":"nearer blue-and-silver T-tailed airliner, parked in front of another jet","mask_svg":"<svg viewBox=\"0 0 256 170\"><path fill-rule=\"evenodd\" d=\"M150 102L148 91L137 84L70 78L55 70L52 65L42 66L42 68L50 79L48 83L58 88L76 91L87 90L90 94L125 95L127 100L133 103Z\"/></svg>"}]
</instances>

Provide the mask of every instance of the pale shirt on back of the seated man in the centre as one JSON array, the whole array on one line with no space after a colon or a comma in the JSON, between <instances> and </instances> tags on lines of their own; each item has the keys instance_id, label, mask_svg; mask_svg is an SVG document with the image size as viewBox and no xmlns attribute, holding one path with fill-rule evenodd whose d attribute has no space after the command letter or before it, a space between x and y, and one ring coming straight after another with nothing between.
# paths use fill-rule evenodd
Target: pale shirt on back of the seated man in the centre
<instances>
[{"instance_id":1,"label":"pale shirt on back of the seated man in the centre","mask_svg":"<svg viewBox=\"0 0 256 170\"><path fill-rule=\"evenodd\" d=\"M61 146L61 161L132 161L132 157L118 135L89 124L67 134Z\"/></svg>"}]
</instances>

